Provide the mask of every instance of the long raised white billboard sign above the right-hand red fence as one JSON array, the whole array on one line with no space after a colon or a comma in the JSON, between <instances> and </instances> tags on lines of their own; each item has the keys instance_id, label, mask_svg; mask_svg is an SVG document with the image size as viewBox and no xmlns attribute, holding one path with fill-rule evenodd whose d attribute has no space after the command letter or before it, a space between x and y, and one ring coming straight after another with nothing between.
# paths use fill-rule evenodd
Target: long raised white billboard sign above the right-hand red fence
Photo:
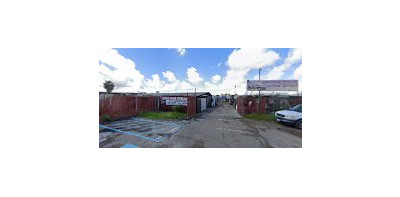
<instances>
[{"instance_id":1,"label":"long raised white billboard sign above the right-hand red fence","mask_svg":"<svg viewBox=\"0 0 400 197\"><path fill-rule=\"evenodd\" d=\"M297 80L247 80L248 91L297 91Z\"/></svg>"}]
</instances>

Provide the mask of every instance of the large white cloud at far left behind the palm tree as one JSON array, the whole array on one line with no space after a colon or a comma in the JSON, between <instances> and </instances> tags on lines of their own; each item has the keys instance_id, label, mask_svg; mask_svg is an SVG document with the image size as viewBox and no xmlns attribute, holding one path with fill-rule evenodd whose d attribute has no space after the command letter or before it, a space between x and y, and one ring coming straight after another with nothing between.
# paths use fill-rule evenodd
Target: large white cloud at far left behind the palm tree
<instances>
[{"instance_id":1,"label":"large white cloud at far left behind the palm tree","mask_svg":"<svg viewBox=\"0 0 400 197\"><path fill-rule=\"evenodd\" d=\"M104 49L100 51L100 91L105 91L104 81L111 80L115 85L115 92L136 92L140 90L143 79L144 76L136 69L135 62L121 56L117 50Z\"/></svg>"}]
</instances>

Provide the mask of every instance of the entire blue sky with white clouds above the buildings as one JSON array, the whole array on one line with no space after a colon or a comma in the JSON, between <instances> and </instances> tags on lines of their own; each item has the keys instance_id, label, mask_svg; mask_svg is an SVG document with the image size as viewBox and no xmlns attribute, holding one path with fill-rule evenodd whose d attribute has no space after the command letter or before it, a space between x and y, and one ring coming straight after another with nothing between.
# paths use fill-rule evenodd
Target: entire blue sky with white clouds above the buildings
<instances>
[{"instance_id":1,"label":"entire blue sky with white clouds above the buildings","mask_svg":"<svg viewBox=\"0 0 400 197\"><path fill-rule=\"evenodd\" d=\"M99 91L249 94L247 80L296 79L302 51L291 48L114 48L100 51Z\"/></svg>"}]
</instances>

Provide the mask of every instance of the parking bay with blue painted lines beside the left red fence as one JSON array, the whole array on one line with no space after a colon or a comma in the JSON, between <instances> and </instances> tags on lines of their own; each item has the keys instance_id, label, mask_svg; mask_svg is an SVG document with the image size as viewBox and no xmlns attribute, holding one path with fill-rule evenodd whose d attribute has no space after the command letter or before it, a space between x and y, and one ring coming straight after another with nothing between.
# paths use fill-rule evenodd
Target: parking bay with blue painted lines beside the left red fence
<instances>
[{"instance_id":1,"label":"parking bay with blue painted lines beside the left red fence","mask_svg":"<svg viewBox=\"0 0 400 197\"><path fill-rule=\"evenodd\" d=\"M150 120L144 118L129 118L100 124L100 127L141 139L162 142L177 133L185 125L182 121Z\"/></svg>"}]
</instances>

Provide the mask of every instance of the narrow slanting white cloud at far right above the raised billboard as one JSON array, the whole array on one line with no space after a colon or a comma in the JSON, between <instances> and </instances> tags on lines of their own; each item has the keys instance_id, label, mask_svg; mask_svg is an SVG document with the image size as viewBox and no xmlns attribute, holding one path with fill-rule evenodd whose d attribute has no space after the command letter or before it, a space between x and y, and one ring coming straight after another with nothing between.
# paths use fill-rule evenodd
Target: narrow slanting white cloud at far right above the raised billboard
<instances>
[{"instance_id":1,"label":"narrow slanting white cloud at far right above the raised billboard","mask_svg":"<svg viewBox=\"0 0 400 197\"><path fill-rule=\"evenodd\" d=\"M301 59L301 49L291 49L285 62L282 65L273 68L264 78L268 80L281 79L285 75L285 72L291 68L293 64L301 61Z\"/></svg>"}]
</instances>

